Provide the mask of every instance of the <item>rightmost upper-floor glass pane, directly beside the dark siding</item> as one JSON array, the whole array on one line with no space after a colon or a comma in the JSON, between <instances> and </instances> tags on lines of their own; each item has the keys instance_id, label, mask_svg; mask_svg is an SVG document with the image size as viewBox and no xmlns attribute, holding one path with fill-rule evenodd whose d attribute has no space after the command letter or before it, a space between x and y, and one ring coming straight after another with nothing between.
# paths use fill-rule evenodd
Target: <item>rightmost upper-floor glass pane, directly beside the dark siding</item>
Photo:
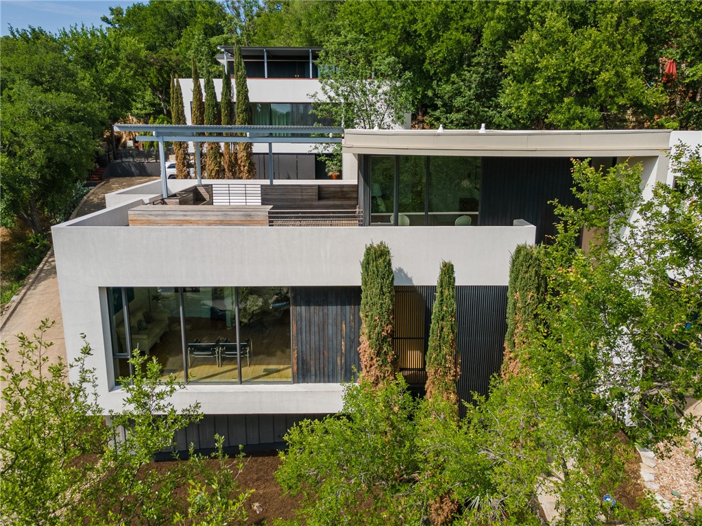
<instances>
[{"instance_id":1,"label":"rightmost upper-floor glass pane, directly beside the dark siding","mask_svg":"<svg viewBox=\"0 0 702 526\"><path fill-rule=\"evenodd\" d=\"M479 157L429 158L429 224L479 224Z\"/></svg>"}]
</instances>

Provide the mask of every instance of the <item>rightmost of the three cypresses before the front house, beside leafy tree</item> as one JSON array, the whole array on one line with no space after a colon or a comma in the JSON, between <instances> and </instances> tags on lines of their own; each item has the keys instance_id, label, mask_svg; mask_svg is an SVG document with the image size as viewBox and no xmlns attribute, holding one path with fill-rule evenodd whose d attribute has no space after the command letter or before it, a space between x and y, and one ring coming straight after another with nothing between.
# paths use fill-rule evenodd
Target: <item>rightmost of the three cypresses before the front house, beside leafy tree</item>
<instances>
[{"instance_id":1,"label":"rightmost of the three cypresses before the front house, beside leafy tree","mask_svg":"<svg viewBox=\"0 0 702 526\"><path fill-rule=\"evenodd\" d=\"M546 290L543 250L540 246L518 245L510 259L504 377L519 372L521 351L538 327L538 308L545 301Z\"/></svg>"}]
</instances>

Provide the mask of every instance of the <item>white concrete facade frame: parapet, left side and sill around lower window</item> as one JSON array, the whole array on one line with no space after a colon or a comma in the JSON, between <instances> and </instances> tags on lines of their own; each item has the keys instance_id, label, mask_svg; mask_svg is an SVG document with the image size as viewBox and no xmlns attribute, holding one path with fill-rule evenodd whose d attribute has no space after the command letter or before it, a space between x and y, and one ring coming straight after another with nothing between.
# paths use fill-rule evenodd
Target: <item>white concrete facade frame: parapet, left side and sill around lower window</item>
<instances>
[{"instance_id":1,"label":"white concrete facade frame: parapet, left side and sill around lower window","mask_svg":"<svg viewBox=\"0 0 702 526\"><path fill-rule=\"evenodd\" d=\"M138 194L137 194L138 195ZM93 346L88 367L106 409L121 406L110 356L107 287L359 285L371 241L390 245L397 285L432 284L439 264L456 264L460 284L504 285L510 253L534 241L534 227L124 227L136 198L53 228L66 349L81 332ZM118 225L118 226L107 226ZM197 385L174 398L208 414L326 413L341 407L338 384Z\"/></svg>"}]
</instances>

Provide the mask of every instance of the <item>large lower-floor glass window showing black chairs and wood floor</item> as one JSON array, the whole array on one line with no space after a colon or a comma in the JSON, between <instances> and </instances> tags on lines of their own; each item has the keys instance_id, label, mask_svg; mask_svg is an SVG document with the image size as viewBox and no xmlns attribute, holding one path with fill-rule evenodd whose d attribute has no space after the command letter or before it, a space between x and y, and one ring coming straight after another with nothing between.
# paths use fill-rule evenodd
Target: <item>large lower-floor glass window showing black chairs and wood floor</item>
<instances>
[{"instance_id":1,"label":"large lower-floor glass window showing black chairs and wood floor","mask_svg":"<svg viewBox=\"0 0 702 526\"><path fill-rule=\"evenodd\" d=\"M128 349L180 382L292 382L288 288L108 288L114 377ZM125 323L127 321L128 323Z\"/></svg>"}]
</instances>

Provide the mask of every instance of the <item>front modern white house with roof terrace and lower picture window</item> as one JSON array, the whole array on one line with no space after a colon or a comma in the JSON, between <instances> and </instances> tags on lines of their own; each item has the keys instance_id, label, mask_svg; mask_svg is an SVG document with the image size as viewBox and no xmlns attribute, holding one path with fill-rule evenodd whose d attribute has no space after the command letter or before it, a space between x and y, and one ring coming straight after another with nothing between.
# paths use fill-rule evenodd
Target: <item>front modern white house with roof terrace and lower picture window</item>
<instances>
[{"instance_id":1,"label":"front modern white house with roof terrace and lower picture window","mask_svg":"<svg viewBox=\"0 0 702 526\"><path fill-rule=\"evenodd\" d=\"M458 391L470 400L501 365L512 251L548 242L549 201L574 202L571 158L629 159L646 187L672 184L666 154L680 140L702 144L702 132L343 130L353 179L118 191L53 227L68 358L85 333L106 409L121 407L130 349L157 358L185 382L176 405L206 414L183 449L213 447L215 431L232 447L280 445L293 422L340 410L359 368L360 261L384 241L398 365L418 391L439 265L455 265Z\"/></svg>"}]
</instances>

